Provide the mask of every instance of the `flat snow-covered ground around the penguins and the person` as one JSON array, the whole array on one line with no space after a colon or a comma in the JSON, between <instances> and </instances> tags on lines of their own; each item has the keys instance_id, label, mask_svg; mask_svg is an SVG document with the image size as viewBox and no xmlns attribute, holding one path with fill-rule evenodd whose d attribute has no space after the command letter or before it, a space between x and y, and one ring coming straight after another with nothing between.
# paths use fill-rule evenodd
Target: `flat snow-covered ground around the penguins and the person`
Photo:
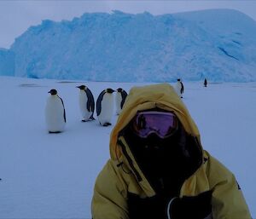
<instances>
[{"instance_id":1,"label":"flat snow-covered ground around the penguins and the person","mask_svg":"<svg viewBox=\"0 0 256 219\"><path fill-rule=\"evenodd\" d=\"M1 219L90 218L94 182L109 158L113 125L80 122L80 84L95 99L102 89L141 85L0 77ZM66 131L58 135L49 135L44 122L47 92L53 88L67 112ZM204 148L235 173L256 218L256 83L204 88L202 82L184 82L183 101Z\"/></svg>"}]
</instances>

